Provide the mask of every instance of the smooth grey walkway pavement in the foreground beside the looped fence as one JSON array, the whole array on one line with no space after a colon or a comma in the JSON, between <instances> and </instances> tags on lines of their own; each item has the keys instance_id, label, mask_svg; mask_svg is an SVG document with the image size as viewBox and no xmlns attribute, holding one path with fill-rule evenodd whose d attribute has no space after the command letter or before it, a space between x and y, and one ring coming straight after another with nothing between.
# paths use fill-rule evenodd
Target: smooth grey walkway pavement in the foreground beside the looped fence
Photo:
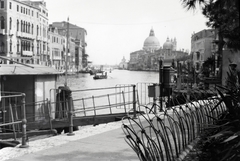
<instances>
[{"instance_id":1,"label":"smooth grey walkway pavement in the foreground beside the looped fence","mask_svg":"<svg viewBox=\"0 0 240 161\"><path fill-rule=\"evenodd\" d=\"M118 128L8 161L139 161L124 137Z\"/></svg>"}]
</instances>

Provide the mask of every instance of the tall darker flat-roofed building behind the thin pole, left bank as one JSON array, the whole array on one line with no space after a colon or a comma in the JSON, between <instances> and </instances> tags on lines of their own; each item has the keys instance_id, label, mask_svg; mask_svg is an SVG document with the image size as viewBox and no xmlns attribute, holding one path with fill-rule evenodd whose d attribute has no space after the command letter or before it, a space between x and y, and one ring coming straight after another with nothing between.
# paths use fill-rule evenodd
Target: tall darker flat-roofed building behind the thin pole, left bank
<instances>
[{"instance_id":1,"label":"tall darker flat-roofed building behind the thin pole, left bank","mask_svg":"<svg viewBox=\"0 0 240 161\"><path fill-rule=\"evenodd\" d=\"M59 33L62 35L66 35L67 32L67 23L65 21L62 22L53 22L52 26L57 27ZM81 70L88 65L87 53L86 53L86 35L87 31L84 28L81 28L77 25L73 25L69 23L69 42L75 43L75 49L71 50L70 56L68 56L68 60L71 60L71 63L74 63L74 69Z\"/></svg>"}]
</instances>

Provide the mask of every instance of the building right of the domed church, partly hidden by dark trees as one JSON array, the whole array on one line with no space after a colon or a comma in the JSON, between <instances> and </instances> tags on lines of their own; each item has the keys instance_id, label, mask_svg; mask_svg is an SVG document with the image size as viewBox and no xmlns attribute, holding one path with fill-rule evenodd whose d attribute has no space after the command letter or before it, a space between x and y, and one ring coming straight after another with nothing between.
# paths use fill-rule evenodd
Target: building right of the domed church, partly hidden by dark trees
<instances>
[{"instance_id":1,"label":"building right of the domed church, partly hidden by dark trees","mask_svg":"<svg viewBox=\"0 0 240 161\"><path fill-rule=\"evenodd\" d=\"M202 67L204 61L214 55L215 39L214 29L205 29L197 33L193 33L191 37L191 53L193 55L193 66L197 71Z\"/></svg>"}]
</instances>

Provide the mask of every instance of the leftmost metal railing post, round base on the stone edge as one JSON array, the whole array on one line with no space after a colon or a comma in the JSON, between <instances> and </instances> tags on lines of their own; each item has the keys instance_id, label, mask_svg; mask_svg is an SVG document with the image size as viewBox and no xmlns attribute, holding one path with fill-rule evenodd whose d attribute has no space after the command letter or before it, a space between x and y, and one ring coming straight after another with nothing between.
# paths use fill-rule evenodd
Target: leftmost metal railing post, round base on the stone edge
<instances>
[{"instance_id":1,"label":"leftmost metal railing post, round base on the stone edge","mask_svg":"<svg viewBox=\"0 0 240 161\"><path fill-rule=\"evenodd\" d=\"M26 119L26 107L25 107L25 98L26 95L22 93L22 145L19 146L20 148L28 148L29 145L27 145L27 119Z\"/></svg>"}]
</instances>

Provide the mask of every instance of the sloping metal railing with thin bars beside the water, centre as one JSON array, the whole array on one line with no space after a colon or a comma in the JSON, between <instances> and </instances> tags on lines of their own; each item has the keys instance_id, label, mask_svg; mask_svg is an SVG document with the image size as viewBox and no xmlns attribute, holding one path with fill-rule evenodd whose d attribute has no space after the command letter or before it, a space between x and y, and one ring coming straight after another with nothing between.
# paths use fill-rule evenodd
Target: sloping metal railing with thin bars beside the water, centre
<instances>
[{"instance_id":1,"label":"sloping metal railing with thin bars beside the water, centre","mask_svg":"<svg viewBox=\"0 0 240 161\"><path fill-rule=\"evenodd\" d=\"M69 108L69 133L73 135L73 117L85 117L96 115L108 115L114 113L128 113L133 111L133 117L136 117L136 86L124 85L108 88L96 88L86 90L74 90L68 97ZM90 90L104 90L104 93L98 96L73 99L72 95L78 92L88 92ZM113 93L111 93L113 92ZM131 105L131 106L130 106Z\"/></svg>"}]
</instances>

